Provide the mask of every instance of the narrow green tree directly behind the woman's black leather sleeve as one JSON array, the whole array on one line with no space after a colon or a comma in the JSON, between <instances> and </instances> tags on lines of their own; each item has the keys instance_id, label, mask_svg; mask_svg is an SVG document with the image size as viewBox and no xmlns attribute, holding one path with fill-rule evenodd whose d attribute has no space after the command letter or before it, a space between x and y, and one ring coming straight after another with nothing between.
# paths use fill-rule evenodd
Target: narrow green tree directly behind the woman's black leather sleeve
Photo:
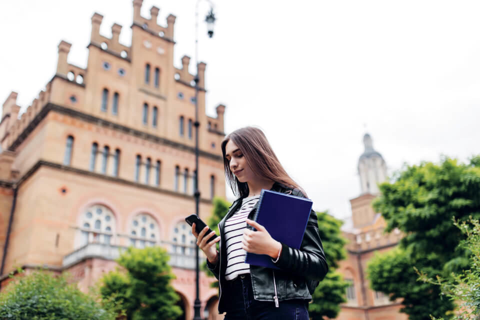
<instances>
[{"instance_id":1,"label":"narrow green tree directly behind the woman's black leather sleeve","mask_svg":"<svg viewBox=\"0 0 480 320\"><path fill-rule=\"evenodd\" d=\"M346 302L348 282L336 271L338 262L346 257L345 238L341 235L342 222L325 212L316 212L320 239L323 244L328 272L312 294L308 312L313 320L324 316L334 318L340 311L340 303Z\"/></svg>"}]
</instances>

